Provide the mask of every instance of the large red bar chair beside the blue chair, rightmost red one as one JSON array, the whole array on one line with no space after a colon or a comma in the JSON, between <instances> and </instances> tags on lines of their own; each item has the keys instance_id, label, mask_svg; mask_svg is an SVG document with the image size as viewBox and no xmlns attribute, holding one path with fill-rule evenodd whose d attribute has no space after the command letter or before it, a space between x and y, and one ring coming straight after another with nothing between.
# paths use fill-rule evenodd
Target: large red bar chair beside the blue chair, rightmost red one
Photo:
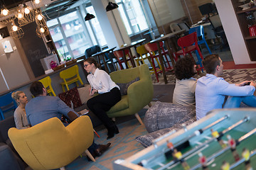
<instances>
[{"instance_id":1,"label":"large red bar chair beside the blue chair, rightmost red one","mask_svg":"<svg viewBox=\"0 0 256 170\"><path fill-rule=\"evenodd\" d=\"M181 50L179 50L178 52L175 52L176 57L174 59L177 61L178 60L177 56L180 56L180 55L185 56L186 54L190 55L193 58L193 56L191 55L191 52L197 51L198 53L196 52L196 57L198 58L198 62L196 62L196 64L199 64L200 67L197 68L196 70L199 71L201 69L203 72L203 64L202 64L203 55L198 46L196 32L193 32L184 37L178 38L178 46L181 47Z\"/></svg>"}]
</instances>

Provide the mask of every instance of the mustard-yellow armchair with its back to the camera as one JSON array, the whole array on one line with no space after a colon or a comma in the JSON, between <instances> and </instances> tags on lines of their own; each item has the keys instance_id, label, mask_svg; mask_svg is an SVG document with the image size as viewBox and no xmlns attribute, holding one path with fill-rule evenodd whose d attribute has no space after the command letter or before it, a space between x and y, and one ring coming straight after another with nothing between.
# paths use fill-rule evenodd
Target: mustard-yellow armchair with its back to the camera
<instances>
[{"instance_id":1,"label":"mustard-yellow armchair with its back to the camera","mask_svg":"<svg viewBox=\"0 0 256 170\"><path fill-rule=\"evenodd\" d=\"M50 118L24 130L11 128L8 135L18 154L32 169L65 169L64 166L82 152L95 162L87 150L93 141L92 122L87 115L67 127L58 118Z\"/></svg>"}]
</instances>

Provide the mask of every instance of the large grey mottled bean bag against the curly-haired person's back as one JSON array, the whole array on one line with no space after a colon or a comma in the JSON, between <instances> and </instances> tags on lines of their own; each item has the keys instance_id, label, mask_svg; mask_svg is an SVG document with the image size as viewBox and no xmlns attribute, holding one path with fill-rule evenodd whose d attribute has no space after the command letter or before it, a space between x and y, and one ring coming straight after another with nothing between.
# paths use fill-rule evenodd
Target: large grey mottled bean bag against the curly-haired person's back
<instances>
[{"instance_id":1,"label":"large grey mottled bean bag against the curly-haired person's back","mask_svg":"<svg viewBox=\"0 0 256 170\"><path fill-rule=\"evenodd\" d=\"M184 123L191 118L196 118L195 106L181 106L174 103L156 101L146 111L144 125L148 132L171 128L177 123Z\"/></svg>"}]
</instances>

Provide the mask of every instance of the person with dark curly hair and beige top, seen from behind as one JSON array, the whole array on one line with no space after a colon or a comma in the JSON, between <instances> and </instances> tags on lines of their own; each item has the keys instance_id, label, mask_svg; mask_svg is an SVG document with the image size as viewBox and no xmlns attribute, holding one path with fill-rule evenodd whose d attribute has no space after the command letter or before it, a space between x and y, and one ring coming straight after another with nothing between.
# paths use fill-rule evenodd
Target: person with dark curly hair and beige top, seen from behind
<instances>
[{"instance_id":1,"label":"person with dark curly hair and beige top, seen from behind","mask_svg":"<svg viewBox=\"0 0 256 170\"><path fill-rule=\"evenodd\" d=\"M182 106L194 105L196 79L196 63L191 57L180 58L174 67L176 84L174 89L173 103Z\"/></svg>"}]
</instances>

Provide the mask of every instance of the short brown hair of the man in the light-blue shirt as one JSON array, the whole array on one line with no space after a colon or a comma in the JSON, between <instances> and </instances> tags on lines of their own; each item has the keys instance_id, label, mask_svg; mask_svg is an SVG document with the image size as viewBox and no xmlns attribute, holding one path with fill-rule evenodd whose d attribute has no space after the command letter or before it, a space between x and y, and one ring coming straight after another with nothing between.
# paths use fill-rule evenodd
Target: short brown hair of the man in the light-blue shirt
<instances>
[{"instance_id":1,"label":"short brown hair of the man in the light-blue shirt","mask_svg":"<svg viewBox=\"0 0 256 170\"><path fill-rule=\"evenodd\" d=\"M218 65L220 65L220 59L217 54L208 55L203 60L203 68L208 74L214 74Z\"/></svg>"}]
</instances>

